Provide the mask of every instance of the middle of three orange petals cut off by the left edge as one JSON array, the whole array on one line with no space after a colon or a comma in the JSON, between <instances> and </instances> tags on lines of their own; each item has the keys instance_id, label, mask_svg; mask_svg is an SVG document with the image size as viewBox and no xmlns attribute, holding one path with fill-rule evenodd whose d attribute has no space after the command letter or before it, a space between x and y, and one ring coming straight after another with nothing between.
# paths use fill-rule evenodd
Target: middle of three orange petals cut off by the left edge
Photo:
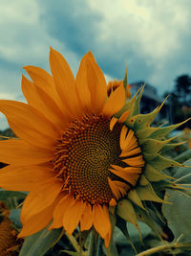
<instances>
[{"instance_id":1,"label":"middle of three orange petals cut off by the left edge","mask_svg":"<svg viewBox=\"0 0 191 256\"><path fill-rule=\"evenodd\" d=\"M53 159L53 150L36 148L19 139L0 141L0 162L13 165L35 165Z\"/></svg>"}]
</instances>

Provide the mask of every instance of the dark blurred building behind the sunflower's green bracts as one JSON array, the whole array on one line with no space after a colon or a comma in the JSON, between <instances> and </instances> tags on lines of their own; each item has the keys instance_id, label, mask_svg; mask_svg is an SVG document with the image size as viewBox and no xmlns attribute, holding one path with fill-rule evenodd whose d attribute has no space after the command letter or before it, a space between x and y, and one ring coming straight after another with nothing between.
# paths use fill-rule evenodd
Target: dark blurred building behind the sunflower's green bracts
<instances>
[{"instance_id":1,"label":"dark blurred building behind the sunflower's green bracts","mask_svg":"<svg viewBox=\"0 0 191 256\"><path fill-rule=\"evenodd\" d=\"M135 95L141 85L145 84L144 92L140 102L140 113L146 114L153 111L157 106L163 102L163 98L159 97L157 89L144 81L138 81L135 83L130 83L131 93ZM169 122L170 121L170 109L169 104L165 102L162 106L159 115L156 118L156 121L159 123Z\"/></svg>"}]
</instances>

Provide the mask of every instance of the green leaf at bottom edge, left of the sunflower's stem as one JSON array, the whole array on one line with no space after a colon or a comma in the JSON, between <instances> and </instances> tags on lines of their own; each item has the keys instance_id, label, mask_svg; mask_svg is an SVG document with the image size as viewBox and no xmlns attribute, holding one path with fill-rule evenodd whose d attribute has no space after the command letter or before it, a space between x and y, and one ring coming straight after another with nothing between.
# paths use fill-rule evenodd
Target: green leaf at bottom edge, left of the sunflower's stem
<instances>
[{"instance_id":1,"label":"green leaf at bottom edge, left of the sunflower's stem","mask_svg":"<svg viewBox=\"0 0 191 256\"><path fill-rule=\"evenodd\" d=\"M48 230L47 228L28 237L19 256L43 256L57 242L62 228Z\"/></svg>"}]
</instances>

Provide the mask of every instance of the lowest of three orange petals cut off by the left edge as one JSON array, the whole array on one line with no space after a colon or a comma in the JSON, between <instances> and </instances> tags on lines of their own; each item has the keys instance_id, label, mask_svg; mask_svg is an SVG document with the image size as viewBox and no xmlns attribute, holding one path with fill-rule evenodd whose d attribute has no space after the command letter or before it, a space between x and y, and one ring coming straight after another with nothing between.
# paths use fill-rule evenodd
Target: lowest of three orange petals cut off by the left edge
<instances>
[{"instance_id":1,"label":"lowest of three orange petals cut off by the left edge","mask_svg":"<svg viewBox=\"0 0 191 256\"><path fill-rule=\"evenodd\" d=\"M35 190L38 183L53 178L50 169L39 166L12 166L0 169L0 187L14 191Z\"/></svg>"}]
</instances>

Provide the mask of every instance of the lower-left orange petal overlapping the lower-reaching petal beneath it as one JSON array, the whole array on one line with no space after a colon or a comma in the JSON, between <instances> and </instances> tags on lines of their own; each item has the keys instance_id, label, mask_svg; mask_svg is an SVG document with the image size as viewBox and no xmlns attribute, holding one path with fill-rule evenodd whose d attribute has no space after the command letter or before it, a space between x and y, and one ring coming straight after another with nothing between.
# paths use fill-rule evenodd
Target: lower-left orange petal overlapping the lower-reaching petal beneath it
<instances>
[{"instance_id":1,"label":"lower-left orange petal overlapping the lower-reaching petal beneath it","mask_svg":"<svg viewBox=\"0 0 191 256\"><path fill-rule=\"evenodd\" d=\"M63 183L57 178L52 178L44 183L38 184L23 203L21 221L23 223L28 221L32 216L50 206L59 195L62 187Z\"/></svg>"}]
</instances>

